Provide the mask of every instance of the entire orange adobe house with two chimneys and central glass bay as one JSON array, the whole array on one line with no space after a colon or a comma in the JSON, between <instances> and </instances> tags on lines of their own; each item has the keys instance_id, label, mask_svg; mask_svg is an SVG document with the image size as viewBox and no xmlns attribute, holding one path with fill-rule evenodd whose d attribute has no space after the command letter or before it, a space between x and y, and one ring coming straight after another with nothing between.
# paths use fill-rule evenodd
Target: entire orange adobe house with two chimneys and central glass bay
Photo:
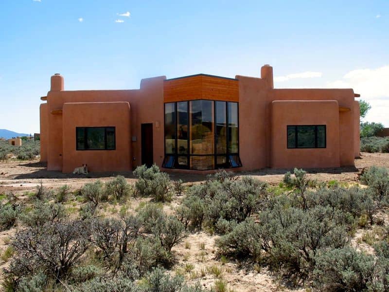
<instances>
[{"instance_id":1,"label":"entire orange adobe house with two chimneys and central glass bay","mask_svg":"<svg viewBox=\"0 0 389 292\"><path fill-rule=\"evenodd\" d=\"M359 156L352 89L275 89L261 78L206 74L141 80L140 89L65 91L51 77L40 105L48 170L130 171L339 167Z\"/></svg>"}]
</instances>

